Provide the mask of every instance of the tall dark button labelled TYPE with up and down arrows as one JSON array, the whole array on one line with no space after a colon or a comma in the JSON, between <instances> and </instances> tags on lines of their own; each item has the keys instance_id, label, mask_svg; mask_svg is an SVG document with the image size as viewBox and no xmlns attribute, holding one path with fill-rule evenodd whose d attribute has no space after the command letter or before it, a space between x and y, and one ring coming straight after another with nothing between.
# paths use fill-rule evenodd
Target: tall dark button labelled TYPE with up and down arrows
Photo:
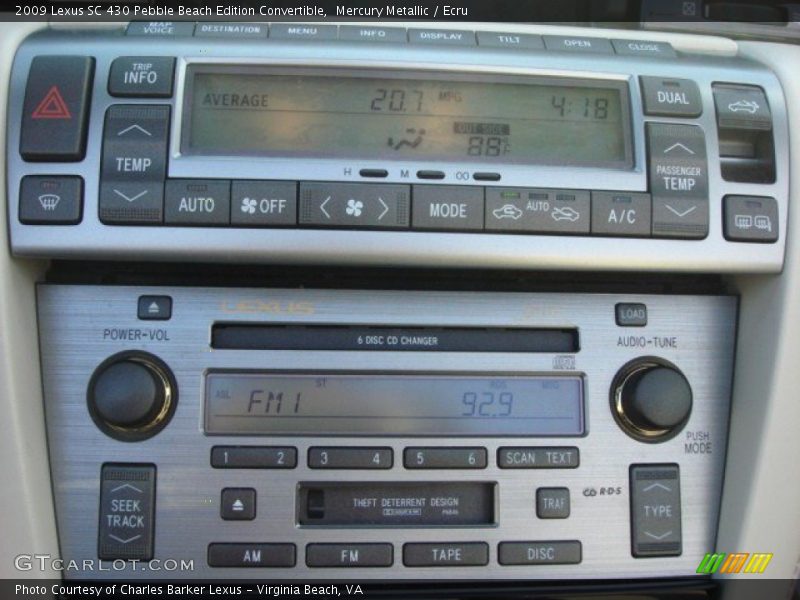
<instances>
[{"instance_id":1,"label":"tall dark button labelled TYPE with up and down arrows","mask_svg":"<svg viewBox=\"0 0 800 600\"><path fill-rule=\"evenodd\" d=\"M631 465L631 554L679 556L681 490L678 465Z\"/></svg>"}]
</instances>

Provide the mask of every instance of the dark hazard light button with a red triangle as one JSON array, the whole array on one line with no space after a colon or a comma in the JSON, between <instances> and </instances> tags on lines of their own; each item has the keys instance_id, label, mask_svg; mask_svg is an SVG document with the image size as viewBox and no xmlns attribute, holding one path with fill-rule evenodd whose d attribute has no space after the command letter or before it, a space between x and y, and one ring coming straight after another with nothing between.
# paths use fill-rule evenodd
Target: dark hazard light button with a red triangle
<instances>
[{"instance_id":1,"label":"dark hazard light button with a red triangle","mask_svg":"<svg viewBox=\"0 0 800 600\"><path fill-rule=\"evenodd\" d=\"M31 62L19 153L27 161L77 162L86 156L94 59L37 56Z\"/></svg>"}]
</instances>

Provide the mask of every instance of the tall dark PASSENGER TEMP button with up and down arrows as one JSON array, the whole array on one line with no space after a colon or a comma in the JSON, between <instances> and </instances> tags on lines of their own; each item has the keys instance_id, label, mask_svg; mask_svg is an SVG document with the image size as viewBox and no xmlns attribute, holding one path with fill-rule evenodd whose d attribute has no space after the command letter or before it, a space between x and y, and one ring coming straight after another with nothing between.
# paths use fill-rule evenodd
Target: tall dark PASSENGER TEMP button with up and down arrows
<instances>
[{"instance_id":1,"label":"tall dark PASSENGER TEMP button with up and down arrows","mask_svg":"<svg viewBox=\"0 0 800 600\"><path fill-rule=\"evenodd\" d=\"M708 164L703 130L694 125L648 123L654 237L708 235Z\"/></svg>"}]
</instances>

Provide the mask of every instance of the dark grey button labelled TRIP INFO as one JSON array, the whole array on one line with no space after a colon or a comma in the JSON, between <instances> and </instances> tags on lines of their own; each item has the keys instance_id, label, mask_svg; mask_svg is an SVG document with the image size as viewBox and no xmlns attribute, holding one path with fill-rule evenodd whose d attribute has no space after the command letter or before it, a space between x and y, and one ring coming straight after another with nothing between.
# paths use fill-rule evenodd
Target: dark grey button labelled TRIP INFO
<instances>
[{"instance_id":1,"label":"dark grey button labelled TRIP INFO","mask_svg":"<svg viewBox=\"0 0 800 600\"><path fill-rule=\"evenodd\" d=\"M111 63L108 93L129 98L169 98L175 59L168 56L122 56Z\"/></svg>"}]
</instances>

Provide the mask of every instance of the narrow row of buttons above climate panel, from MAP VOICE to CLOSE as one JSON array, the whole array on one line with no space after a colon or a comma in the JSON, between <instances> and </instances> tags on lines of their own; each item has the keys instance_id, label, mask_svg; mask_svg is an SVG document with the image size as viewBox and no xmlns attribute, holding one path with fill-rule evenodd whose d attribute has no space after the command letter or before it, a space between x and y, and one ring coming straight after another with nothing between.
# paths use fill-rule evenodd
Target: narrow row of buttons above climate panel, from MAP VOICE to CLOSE
<instances>
[{"instance_id":1,"label":"narrow row of buttons above climate panel, from MAP VOICE to CLOSE","mask_svg":"<svg viewBox=\"0 0 800 600\"><path fill-rule=\"evenodd\" d=\"M357 13L344 16L357 17ZM391 15L388 15L391 17ZM550 50L590 54L619 54L674 58L667 42L651 40L609 40L589 36L532 35L505 31L463 29L404 29L376 25L316 25L312 23L197 23L138 21L128 25L128 35L148 37L226 38L261 41L266 39L304 42L374 42L437 46L482 46L509 50Z\"/></svg>"}]
</instances>

